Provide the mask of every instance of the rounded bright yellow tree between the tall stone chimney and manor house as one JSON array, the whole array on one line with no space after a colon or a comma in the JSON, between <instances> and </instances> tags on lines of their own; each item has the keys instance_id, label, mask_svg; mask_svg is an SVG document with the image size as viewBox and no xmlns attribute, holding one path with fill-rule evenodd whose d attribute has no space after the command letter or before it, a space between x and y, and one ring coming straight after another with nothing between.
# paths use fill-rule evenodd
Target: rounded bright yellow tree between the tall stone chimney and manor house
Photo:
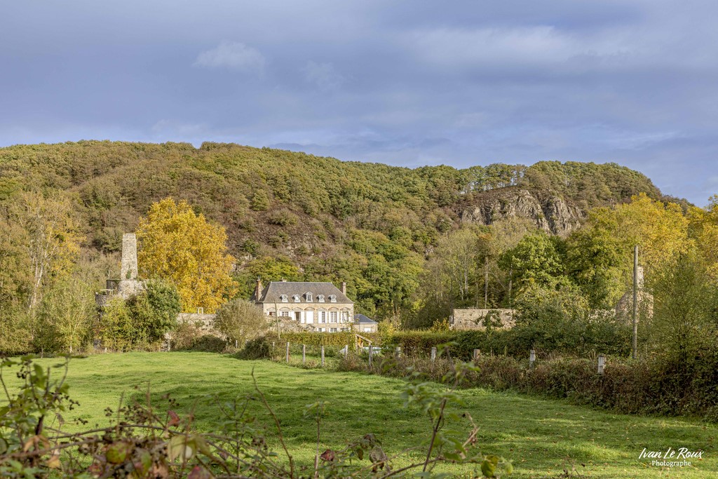
<instances>
[{"instance_id":1,"label":"rounded bright yellow tree between the tall stone chimney and manor house","mask_svg":"<svg viewBox=\"0 0 718 479\"><path fill-rule=\"evenodd\" d=\"M177 286L182 310L214 312L236 294L230 277L235 259L227 254L227 233L208 223L185 201L154 203L137 228L140 274Z\"/></svg>"}]
</instances>

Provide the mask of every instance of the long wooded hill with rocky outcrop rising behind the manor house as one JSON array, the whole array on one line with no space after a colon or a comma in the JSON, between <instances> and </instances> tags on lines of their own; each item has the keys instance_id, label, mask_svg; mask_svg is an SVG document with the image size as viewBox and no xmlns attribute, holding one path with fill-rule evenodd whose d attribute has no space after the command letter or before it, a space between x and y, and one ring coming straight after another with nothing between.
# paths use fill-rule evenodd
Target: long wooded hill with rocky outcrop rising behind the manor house
<instances>
[{"instance_id":1,"label":"long wooded hill with rocky outcrop rising behind the manor house","mask_svg":"<svg viewBox=\"0 0 718 479\"><path fill-rule=\"evenodd\" d=\"M184 199L225 226L241 274L346 278L350 291L374 287L371 275L386 272L366 271L377 255L390 266L411 259L399 269L416 277L439 236L462 222L523 215L566 233L588 208L639 192L661 198L651 180L617 164L408 169L236 144L111 141L0 149L0 204L23 190L70 194L85 246L106 253L118 251L121 233L134 231L151 203ZM391 282L382 288L372 294L411 294Z\"/></svg>"}]
</instances>

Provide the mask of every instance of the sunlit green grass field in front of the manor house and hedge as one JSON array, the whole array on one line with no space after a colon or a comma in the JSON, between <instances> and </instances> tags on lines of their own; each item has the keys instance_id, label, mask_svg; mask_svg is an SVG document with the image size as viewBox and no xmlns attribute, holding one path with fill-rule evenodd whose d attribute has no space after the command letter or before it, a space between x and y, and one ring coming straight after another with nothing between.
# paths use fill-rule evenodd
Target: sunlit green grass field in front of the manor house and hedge
<instances>
[{"instance_id":1,"label":"sunlit green grass field in front of the manor house and hedge","mask_svg":"<svg viewBox=\"0 0 718 479\"><path fill-rule=\"evenodd\" d=\"M49 366L61 360L38 361ZM134 386L144 391L149 382L158 407L162 406L160 397L169 393L179 403L178 412L194 408L197 427L209 431L218 417L218 404L212 396L231 399L251 393L253 368L300 463L313 461L314 424L302 413L305 405L317 400L326 401L329 412L322 447L341 447L367 432L376 434L388 453L428 440L428 419L417 409L404 409L399 399L404 381L269 361L239 361L211 353L127 353L73 359L68 375L70 396L80 401L80 406L66 419L82 417L90 421L88 427L106 424L106 407L116 408L123 393L126 401L144 396ZM4 378L10 385L17 384L11 370L4 372ZM482 451L513 460L516 472L511 477L556 477L572 464L588 478L718 477L714 446L718 427L713 425L611 414L566 401L484 389L467 389L461 395L466 404L456 409L469 411L480 424ZM269 424L259 407L256 411ZM638 459L644 447L656 451L687 447L703 450L704 458L691 460L690 467L658 468L651 466L650 460Z\"/></svg>"}]
</instances>

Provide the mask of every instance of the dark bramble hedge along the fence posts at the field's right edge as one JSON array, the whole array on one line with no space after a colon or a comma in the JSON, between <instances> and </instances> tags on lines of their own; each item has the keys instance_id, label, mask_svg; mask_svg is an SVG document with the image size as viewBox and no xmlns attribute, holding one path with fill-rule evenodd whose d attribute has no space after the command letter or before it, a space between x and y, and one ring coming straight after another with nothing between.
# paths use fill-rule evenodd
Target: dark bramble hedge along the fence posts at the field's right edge
<instances>
[{"instance_id":1,"label":"dark bramble hedge along the fence posts at the field's right edge","mask_svg":"<svg viewBox=\"0 0 718 479\"><path fill-rule=\"evenodd\" d=\"M447 355L452 348L456 346L449 345L435 361L376 355L372 366L365 357L350 355L340 359L337 369L403 377L411 368L427 380L441 381L459 361ZM641 361L609 357L603 374L599 374L595 358L539 355L529 368L528 357L481 355L462 386L569 399L626 414L691 415L718 422L718 352L704 350L695 359L701 366L686 375L670 355L653 355Z\"/></svg>"}]
</instances>

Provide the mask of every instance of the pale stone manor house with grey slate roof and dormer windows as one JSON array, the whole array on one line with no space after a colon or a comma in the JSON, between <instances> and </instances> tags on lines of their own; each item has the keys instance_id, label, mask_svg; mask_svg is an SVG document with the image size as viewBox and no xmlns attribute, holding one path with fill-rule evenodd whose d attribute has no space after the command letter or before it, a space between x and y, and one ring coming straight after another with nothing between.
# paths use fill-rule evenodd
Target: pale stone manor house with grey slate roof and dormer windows
<instances>
[{"instance_id":1,"label":"pale stone manor house with grey slate roof and dormer windows","mask_svg":"<svg viewBox=\"0 0 718 479\"><path fill-rule=\"evenodd\" d=\"M262 287L257 279L251 301L269 317L287 317L318 332L359 330L376 332L377 323L364 317L355 321L354 302L332 283L273 281Z\"/></svg>"}]
</instances>

